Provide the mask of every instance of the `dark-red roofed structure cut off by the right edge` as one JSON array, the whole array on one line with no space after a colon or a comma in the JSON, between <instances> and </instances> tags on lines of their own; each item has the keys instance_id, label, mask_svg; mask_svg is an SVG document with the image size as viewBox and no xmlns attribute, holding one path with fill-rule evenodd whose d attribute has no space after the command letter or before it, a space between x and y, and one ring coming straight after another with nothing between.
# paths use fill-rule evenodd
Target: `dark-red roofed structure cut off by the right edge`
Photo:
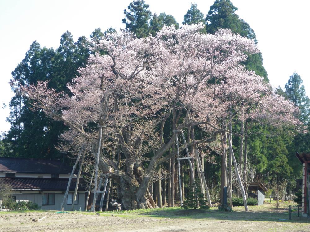
<instances>
[{"instance_id":1,"label":"dark-red roofed structure cut off by the right edge","mask_svg":"<svg viewBox=\"0 0 310 232\"><path fill-rule=\"evenodd\" d=\"M296 157L303 164L303 187L302 187L302 203L301 208L304 217L310 216L310 154L296 152Z\"/></svg>"}]
</instances>

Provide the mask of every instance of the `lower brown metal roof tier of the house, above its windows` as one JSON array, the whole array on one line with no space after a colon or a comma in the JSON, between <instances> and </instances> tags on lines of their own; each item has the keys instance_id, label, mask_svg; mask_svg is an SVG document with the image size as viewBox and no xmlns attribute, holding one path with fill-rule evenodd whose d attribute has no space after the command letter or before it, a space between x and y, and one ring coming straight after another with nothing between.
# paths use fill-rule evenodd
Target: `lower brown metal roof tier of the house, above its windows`
<instances>
[{"instance_id":1,"label":"lower brown metal roof tier of the house, above its windows","mask_svg":"<svg viewBox=\"0 0 310 232\"><path fill-rule=\"evenodd\" d=\"M1 185L7 185L11 190L62 190L65 191L68 185L67 178L0 178ZM79 182L79 190L85 190L84 180ZM76 179L71 180L69 190L74 190Z\"/></svg>"}]
</instances>

